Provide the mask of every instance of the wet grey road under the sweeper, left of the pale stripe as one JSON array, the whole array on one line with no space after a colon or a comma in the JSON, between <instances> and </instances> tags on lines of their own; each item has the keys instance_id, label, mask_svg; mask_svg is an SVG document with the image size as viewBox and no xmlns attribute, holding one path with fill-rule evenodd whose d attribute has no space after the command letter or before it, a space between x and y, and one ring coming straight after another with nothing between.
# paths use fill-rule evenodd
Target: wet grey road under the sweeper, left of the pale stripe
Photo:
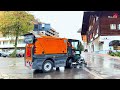
<instances>
[{"instance_id":1,"label":"wet grey road under the sweeper, left of the pale stripe","mask_svg":"<svg viewBox=\"0 0 120 90\"><path fill-rule=\"evenodd\" d=\"M50 73L32 71L24 66L23 58L0 58L0 78L5 79L93 79L93 75L83 69L55 69Z\"/></svg>"}]
</instances>

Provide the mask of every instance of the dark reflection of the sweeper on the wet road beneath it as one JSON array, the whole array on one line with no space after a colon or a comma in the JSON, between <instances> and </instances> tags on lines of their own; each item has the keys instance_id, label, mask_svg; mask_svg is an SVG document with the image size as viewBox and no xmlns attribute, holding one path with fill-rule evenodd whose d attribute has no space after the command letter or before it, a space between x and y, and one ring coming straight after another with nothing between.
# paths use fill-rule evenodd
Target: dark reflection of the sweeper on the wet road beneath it
<instances>
[{"instance_id":1,"label":"dark reflection of the sweeper on the wet road beneath it","mask_svg":"<svg viewBox=\"0 0 120 90\"><path fill-rule=\"evenodd\" d=\"M90 75L83 69L66 69L64 71L53 71L50 73L39 73L33 75L37 79L93 79L94 76Z\"/></svg>"}]
</instances>

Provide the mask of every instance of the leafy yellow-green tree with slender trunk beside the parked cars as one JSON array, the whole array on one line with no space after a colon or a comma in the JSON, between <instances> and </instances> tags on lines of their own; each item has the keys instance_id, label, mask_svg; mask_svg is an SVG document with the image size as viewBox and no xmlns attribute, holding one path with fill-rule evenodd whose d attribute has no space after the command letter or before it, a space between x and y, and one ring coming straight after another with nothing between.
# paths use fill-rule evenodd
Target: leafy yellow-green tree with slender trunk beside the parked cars
<instances>
[{"instance_id":1,"label":"leafy yellow-green tree with slender trunk beside the parked cars","mask_svg":"<svg viewBox=\"0 0 120 90\"><path fill-rule=\"evenodd\" d=\"M14 37L14 53L16 56L17 41L19 36L28 33L33 29L34 16L26 11L1 11L0 32L5 37Z\"/></svg>"}]
</instances>

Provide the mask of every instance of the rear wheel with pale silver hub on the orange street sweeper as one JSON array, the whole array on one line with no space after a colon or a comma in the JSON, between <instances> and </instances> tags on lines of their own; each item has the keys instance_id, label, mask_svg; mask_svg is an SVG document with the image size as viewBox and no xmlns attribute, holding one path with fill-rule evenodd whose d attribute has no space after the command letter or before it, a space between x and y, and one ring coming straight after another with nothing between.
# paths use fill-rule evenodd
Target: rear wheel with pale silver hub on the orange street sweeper
<instances>
[{"instance_id":1,"label":"rear wheel with pale silver hub on the orange street sweeper","mask_svg":"<svg viewBox=\"0 0 120 90\"><path fill-rule=\"evenodd\" d=\"M42 71L47 73L53 70L53 62L50 60L47 60L42 65Z\"/></svg>"}]
</instances>

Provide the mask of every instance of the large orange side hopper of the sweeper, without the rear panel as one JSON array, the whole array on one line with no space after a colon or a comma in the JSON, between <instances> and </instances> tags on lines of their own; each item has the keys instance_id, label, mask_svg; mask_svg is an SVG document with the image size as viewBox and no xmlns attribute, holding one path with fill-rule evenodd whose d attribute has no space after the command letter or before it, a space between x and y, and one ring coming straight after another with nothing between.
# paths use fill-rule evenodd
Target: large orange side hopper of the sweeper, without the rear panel
<instances>
[{"instance_id":1,"label":"large orange side hopper of the sweeper, without the rear panel","mask_svg":"<svg viewBox=\"0 0 120 90\"><path fill-rule=\"evenodd\" d=\"M42 37L35 42L34 54L65 54L67 53L67 39Z\"/></svg>"}]
</instances>

